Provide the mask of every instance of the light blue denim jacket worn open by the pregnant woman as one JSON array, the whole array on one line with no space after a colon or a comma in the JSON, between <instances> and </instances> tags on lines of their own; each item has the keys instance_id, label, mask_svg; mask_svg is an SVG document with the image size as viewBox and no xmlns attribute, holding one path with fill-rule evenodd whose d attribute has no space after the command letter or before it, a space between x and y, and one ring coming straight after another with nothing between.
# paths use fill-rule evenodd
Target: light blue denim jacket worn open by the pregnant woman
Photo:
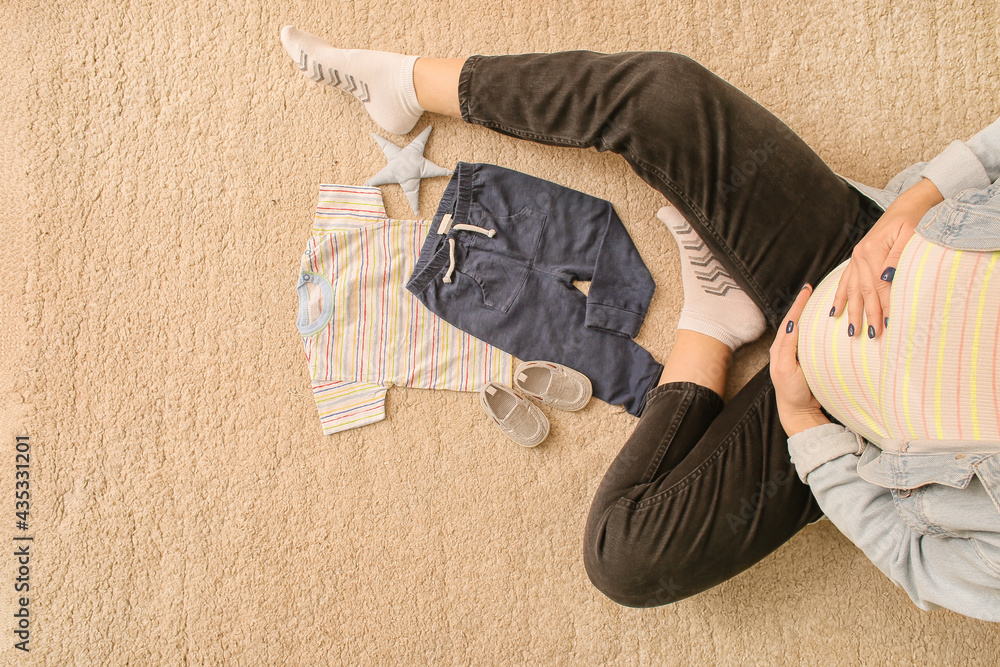
<instances>
[{"instance_id":1,"label":"light blue denim jacket worn open by the pregnant woman","mask_svg":"<svg viewBox=\"0 0 1000 667\"><path fill-rule=\"evenodd\" d=\"M945 200L918 234L1000 250L1000 120L884 189L844 180L885 209L924 177ZM788 450L826 516L918 607L1000 621L1000 442L872 443L824 424L790 437Z\"/></svg>"}]
</instances>

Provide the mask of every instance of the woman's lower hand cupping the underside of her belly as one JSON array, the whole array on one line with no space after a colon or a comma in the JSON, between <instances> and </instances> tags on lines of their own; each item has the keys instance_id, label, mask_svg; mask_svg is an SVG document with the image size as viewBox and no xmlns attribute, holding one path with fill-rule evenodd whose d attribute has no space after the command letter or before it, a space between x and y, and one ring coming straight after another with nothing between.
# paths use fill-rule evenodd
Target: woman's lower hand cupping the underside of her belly
<instances>
[{"instance_id":1,"label":"woman's lower hand cupping the underside of her belly","mask_svg":"<svg viewBox=\"0 0 1000 667\"><path fill-rule=\"evenodd\" d=\"M799 365L799 317L811 295L812 286L803 286L771 345L771 382L774 383L778 417L789 437L807 428L830 423L806 384L806 376Z\"/></svg>"}]
</instances>

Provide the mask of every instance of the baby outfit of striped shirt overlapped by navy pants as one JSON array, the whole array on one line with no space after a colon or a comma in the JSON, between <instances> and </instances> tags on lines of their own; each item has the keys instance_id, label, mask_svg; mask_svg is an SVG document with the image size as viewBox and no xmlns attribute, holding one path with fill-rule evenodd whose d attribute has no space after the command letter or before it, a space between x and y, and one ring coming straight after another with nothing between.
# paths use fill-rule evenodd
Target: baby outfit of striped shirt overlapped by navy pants
<instances>
[{"instance_id":1,"label":"baby outfit of striped shirt overlapped by navy pants","mask_svg":"<svg viewBox=\"0 0 1000 667\"><path fill-rule=\"evenodd\" d=\"M460 162L430 222L323 185L312 232L297 326L325 434L384 419L390 385L510 384L511 355L578 370L633 415L660 378L632 340L655 283L608 201Z\"/></svg>"}]
</instances>

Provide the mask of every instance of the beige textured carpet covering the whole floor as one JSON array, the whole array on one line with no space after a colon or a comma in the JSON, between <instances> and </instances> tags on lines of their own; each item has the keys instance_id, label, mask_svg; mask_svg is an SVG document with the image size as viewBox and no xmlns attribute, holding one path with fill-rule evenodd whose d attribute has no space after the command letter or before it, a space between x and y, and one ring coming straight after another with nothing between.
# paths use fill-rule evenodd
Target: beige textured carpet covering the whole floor
<instances>
[{"instance_id":1,"label":"beige textured carpet covering the whole floor","mask_svg":"<svg viewBox=\"0 0 1000 667\"><path fill-rule=\"evenodd\" d=\"M394 388L320 433L294 282L320 182L384 164L375 126L300 76L286 23L459 56L691 55L841 173L883 184L998 114L992 3L93 0L0 4L0 622L9 664L990 663L1000 632L925 613L829 523L717 589L619 607L588 582L590 498L634 419L551 413L508 443L474 394ZM679 265L624 161L442 117L427 156L611 200L673 341ZM424 182L430 215L447 179ZM389 212L409 217L398 186ZM739 360L731 390L763 365ZM15 528L14 437L31 437ZM15 535L32 535L13 648Z\"/></svg>"}]
</instances>

